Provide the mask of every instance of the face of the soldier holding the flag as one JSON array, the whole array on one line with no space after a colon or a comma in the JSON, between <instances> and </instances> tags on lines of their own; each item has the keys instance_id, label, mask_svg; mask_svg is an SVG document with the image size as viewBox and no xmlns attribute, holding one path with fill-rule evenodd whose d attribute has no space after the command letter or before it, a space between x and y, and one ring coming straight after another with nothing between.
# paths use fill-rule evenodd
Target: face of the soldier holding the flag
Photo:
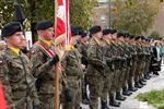
<instances>
[{"instance_id":1,"label":"face of the soldier holding the flag","mask_svg":"<svg viewBox=\"0 0 164 109\"><path fill-rule=\"evenodd\" d=\"M46 40L51 40L52 36L54 36L54 28L49 27L49 28L45 29L43 36Z\"/></svg>"}]
</instances>

